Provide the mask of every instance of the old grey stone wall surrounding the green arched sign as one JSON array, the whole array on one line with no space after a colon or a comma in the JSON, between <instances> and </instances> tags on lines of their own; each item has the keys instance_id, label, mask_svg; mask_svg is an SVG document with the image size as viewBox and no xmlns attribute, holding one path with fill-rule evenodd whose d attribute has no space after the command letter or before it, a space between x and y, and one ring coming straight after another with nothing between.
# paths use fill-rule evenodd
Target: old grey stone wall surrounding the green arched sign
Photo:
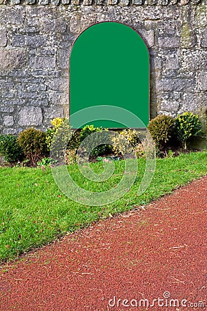
<instances>
[{"instance_id":1,"label":"old grey stone wall surrounding the green arched sign","mask_svg":"<svg viewBox=\"0 0 207 311\"><path fill-rule=\"evenodd\" d=\"M206 0L0 3L1 133L46 129L53 117L68 116L70 49L81 31L99 21L126 23L146 40L151 117L206 114Z\"/></svg>"}]
</instances>

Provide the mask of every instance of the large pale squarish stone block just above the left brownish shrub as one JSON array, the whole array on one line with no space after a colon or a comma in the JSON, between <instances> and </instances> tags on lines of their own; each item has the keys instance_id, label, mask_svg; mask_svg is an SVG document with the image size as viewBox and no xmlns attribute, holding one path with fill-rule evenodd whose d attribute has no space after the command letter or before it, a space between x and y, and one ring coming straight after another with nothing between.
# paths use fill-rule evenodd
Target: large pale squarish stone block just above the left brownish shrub
<instances>
[{"instance_id":1,"label":"large pale squarish stone block just above the left brownish shrub","mask_svg":"<svg viewBox=\"0 0 207 311\"><path fill-rule=\"evenodd\" d=\"M39 107L26 106L19 111L19 126L41 125L42 121L43 115Z\"/></svg>"}]
</instances>

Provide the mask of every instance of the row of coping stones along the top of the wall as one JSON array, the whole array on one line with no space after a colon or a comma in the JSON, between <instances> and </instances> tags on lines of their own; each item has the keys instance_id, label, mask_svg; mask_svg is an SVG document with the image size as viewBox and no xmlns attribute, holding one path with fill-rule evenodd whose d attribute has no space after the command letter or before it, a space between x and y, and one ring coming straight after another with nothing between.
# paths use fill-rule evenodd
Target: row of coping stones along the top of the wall
<instances>
[{"instance_id":1,"label":"row of coping stones along the top of the wall","mask_svg":"<svg viewBox=\"0 0 207 311\"><path fill-rule=\"evenodd\" d=\"M0 6L170 6L196 5L206 0L0 0Z\"/></svg>"}]
</instances>

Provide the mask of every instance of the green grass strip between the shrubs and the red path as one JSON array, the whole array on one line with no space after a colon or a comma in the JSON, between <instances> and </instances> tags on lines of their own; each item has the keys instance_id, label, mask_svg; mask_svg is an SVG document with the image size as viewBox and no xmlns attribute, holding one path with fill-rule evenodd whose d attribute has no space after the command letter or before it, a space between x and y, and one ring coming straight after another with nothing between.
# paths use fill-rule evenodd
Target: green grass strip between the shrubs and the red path
<instances>
[{"instance_id":1,"label":"green grass strip between the shrubs and the red path","mask_svg":"<svg viewBox=\"0 0 207 311\"><path fill-rule=\"evenodd\" d=\"M117 185L124 170L124 161L115 162L115 176L107 182L86 182L76 166L69 167L71 175L81 187L92 191L110 189ZM61 193L51 169L0 168L0 261L17 258L54 240L57 236L74 232L109 214L146 205L173 189L207 174L207 151L188 153L177 158L157 159L155 175L150 187L137 196L137 187L145 169L139 159L139 172L134 185L119 200L104 206L86 206L73 202ZM100 162L90 164L101 172Z\"/></svg>"}]
</instances>

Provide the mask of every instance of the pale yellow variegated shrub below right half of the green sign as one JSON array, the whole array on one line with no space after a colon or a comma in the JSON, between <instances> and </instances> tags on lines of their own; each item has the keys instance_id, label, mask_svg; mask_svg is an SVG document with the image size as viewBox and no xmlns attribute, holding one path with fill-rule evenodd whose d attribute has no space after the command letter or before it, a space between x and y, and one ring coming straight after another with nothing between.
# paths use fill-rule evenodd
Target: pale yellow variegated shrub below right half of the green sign
<instances>
[{"instance_id":1,"label":"pale yellow variegated shrub below right half of the green sign","mask_svg":"<svg viewBox=\"0 0 207 311\"><path fill-rule=\"evenodd\" d=\"M134 129L124 129L119 133L120 135L112 136L112 150L116 155L126 154L132 150L129 148L131 145L133 149L140 143L139 134ZM126 140L129 144L126 143Z\"/></svg>"}]
</instances>

